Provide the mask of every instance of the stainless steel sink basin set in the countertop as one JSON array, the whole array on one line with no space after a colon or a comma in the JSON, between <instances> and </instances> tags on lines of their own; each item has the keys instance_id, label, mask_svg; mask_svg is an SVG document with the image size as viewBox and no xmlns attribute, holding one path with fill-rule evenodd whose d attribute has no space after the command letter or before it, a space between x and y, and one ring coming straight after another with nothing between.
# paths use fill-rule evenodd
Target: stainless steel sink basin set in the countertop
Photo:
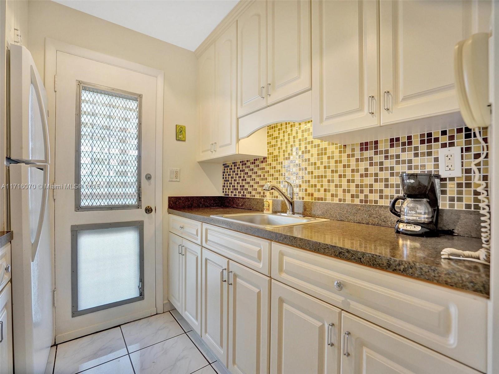
<instances>
[{"instance_id":1,"label":"stainless steel sink basin set in the countertop","mask_svg":"<svg viewBox=\"0 0 499 374\"><path fill-rule=\"evenodd\" d=\"M329 220L325 218L304 217L299 215L268 213L214 214L212 217L262 228L295 226Z\"/></svg>"}]
</instances>

